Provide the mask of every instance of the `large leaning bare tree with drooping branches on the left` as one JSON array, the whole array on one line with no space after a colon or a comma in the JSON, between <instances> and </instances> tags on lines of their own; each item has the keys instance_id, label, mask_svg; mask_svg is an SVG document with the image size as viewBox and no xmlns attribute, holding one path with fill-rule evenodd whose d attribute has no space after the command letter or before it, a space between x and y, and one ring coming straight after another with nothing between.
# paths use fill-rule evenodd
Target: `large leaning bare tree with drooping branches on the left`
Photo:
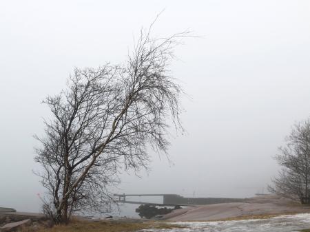
<instances>
[{"instance_id":1,"label":"large leaning bare tree with drooping branches on the left","mask_svg":"<svg viewBox=\"0 0 310 232\"><path fill-rule=\"evenodd\" d=\"M120 171L147 168L149 147L166 153L169 123L183 130L183 91L168 66L189 32L161 39L149 32L141 30L123 65L76 69L66 89L43 101L52 119L37 137L35 160L48 190L43 211L56 223L68 222L77 211L109 211L109 187L118 183Z\"/></svg>"}]
</instances>

